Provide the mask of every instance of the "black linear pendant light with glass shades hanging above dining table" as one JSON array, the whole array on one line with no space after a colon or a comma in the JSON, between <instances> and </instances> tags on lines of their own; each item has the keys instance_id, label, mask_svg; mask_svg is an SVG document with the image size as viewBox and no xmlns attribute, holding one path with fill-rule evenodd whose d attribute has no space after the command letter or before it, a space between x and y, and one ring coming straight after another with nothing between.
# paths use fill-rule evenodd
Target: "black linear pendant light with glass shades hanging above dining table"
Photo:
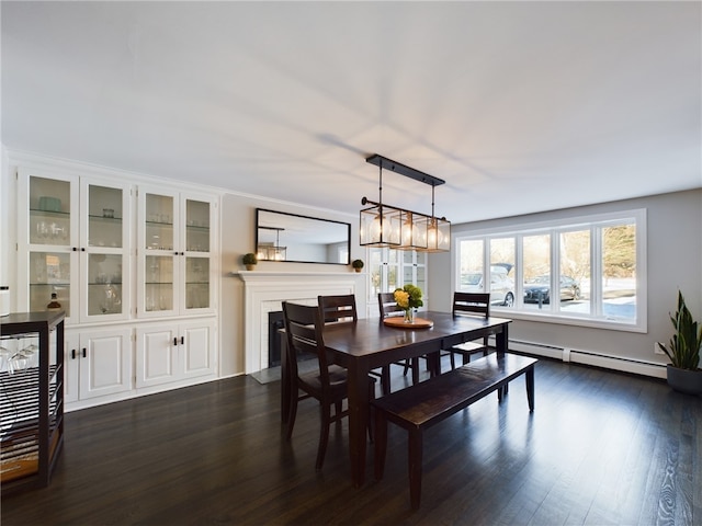
<instances>
[{"instance_id":1,"label":"black linear pendant light with glass shades hanging above dining table","mask_svg":"<svg viewBox=\"0 0 702 526\"><path fill-rule=\"evenodd\" d=\"M361 199L362 205L372 205L361 210L361 247L419 252L451 250L451 222L434 216L434 187L445 181L377 153L365 161L380 169L378 201ZM383 169L431 185L431 216L383 204Z\"/></svg>"}]
</instances>

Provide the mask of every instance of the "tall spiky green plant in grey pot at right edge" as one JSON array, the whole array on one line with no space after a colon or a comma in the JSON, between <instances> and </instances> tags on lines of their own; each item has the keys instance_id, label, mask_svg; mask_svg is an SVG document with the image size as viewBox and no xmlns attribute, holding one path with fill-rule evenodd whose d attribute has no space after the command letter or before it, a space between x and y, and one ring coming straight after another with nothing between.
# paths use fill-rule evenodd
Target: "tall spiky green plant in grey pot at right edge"
<instances>
[{"instance_id":1,"label":"tall spiky green plant in grey pot at right edge","mask_svg":"<svg viewBox=\"0 0 702 526\"><path fill-rule=\"evenodd\" d=\"M668 355L668 385L676 391L689 395L702 395L702 370L699 369L702 328L693 320L684 304L682 293L678 290L678 310L670 315L675 333L668 346L658 343Z\"/></svg>"}]
</instances>

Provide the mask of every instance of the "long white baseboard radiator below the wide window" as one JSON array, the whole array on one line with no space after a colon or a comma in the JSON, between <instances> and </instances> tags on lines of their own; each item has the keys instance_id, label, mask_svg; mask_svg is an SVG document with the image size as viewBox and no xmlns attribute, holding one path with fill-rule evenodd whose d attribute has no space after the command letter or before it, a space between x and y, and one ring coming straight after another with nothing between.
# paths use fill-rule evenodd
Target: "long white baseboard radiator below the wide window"
<instances>
[{"instance_id":1,"label":"long white baseboard radiator below the wide window","mask_svg":"<svg viewBox=\"0 0 702 526\"><path fill-rule=\"evenodd\" d=\"M655 378L666 378L666 366L643 359L624 358L621 356L611 356L592 351L582 351L578 348L565 348L544 343L523 342L520 340L509 341L511 351L522 352L535 356L544 356L547 358L562 359L563 362L571 362L574 364L592 365L604 369L621 370L624 373L633 373L636 375L652 376Z\"/></svg>"}]
</instances>

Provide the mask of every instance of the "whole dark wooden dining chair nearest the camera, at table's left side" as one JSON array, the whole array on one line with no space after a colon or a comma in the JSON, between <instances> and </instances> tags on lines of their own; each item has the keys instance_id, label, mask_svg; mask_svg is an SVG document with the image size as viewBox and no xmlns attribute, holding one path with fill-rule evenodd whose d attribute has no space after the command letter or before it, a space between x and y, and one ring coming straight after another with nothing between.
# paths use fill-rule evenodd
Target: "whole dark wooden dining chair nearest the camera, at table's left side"
<instances>
[{"instance_id":1,"label":"whole dark wooden dining chair nearest the camera, at table's left side","mask_svg":"<svg viewBox=\"0 0 702 526\"><path fill-rule=\"evenodd\" d=\"M348 398L347 369L329 364L327 361L327 350L322 336L324 322L321 310L317 306L283 301L283 319L285 320L287 366L291 378L291 403L285 439L290 442L293 436L297 403L307 398L317 399L321 414L321 430L315 469L319 471L327 453L329 427L333 422L341 422L341 419L349 414L348 409L342 409L343 400ZM317 367L310 371L302 373L297 361L305 355L315 356ZM309 363L312 359L305 362ZM369 391L371 399L374 399L375 379L373 378L369 378ZM370 422L371 419L369 419L369 433L371 433Z\"/></svg>"}]
</instances>

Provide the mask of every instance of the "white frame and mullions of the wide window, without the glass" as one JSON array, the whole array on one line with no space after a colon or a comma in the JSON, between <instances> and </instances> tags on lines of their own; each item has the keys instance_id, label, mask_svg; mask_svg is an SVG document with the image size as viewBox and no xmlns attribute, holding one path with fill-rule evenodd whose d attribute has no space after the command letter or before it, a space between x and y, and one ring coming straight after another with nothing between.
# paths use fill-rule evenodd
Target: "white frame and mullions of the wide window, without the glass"
<instances>
[{"instance_id":1,"label":"white frame and mullions of the wide window, without the glass","mask_svg":"<svg viewBox=\"0 0 702 526\"><path fill-rule=\"evenodd\" d=\"M616 319L605 317L602 313L602 245L601 237L596 235L603 227L616 226L622 222L633 224L636 227L636 316L631 318ZM523 247L522 240L525 236L551 235L551 276L552 290L558 286L557 279L561 276L561 233L574 230L590 230L590 305L591 312L566 313L558 309L558 301L547 305L547 308L540 311L523 309ZM589 216L578 216L554 220L537 221L532 224L521 224L519 226L506 226L487 228L473 231L455 232L452 236L453 245L457 248L452 259L452 287L458 289L461 274L461 241L482 239L484 247L489 247L492 238L513 237L516 240L516 272L514 272L514 306L501 307L492 306L491 311L496 316L509 317L516 320L540 321L548 323L561 323L579 327L591 327L597 329L610 329L626 332L647 331L647 263L646 263L646 209L612 211L593 214ZM489 251L484 250L484 268L489 268ZM486 281L489 282L489 281Z\"/></svg>"}]
</instances>

